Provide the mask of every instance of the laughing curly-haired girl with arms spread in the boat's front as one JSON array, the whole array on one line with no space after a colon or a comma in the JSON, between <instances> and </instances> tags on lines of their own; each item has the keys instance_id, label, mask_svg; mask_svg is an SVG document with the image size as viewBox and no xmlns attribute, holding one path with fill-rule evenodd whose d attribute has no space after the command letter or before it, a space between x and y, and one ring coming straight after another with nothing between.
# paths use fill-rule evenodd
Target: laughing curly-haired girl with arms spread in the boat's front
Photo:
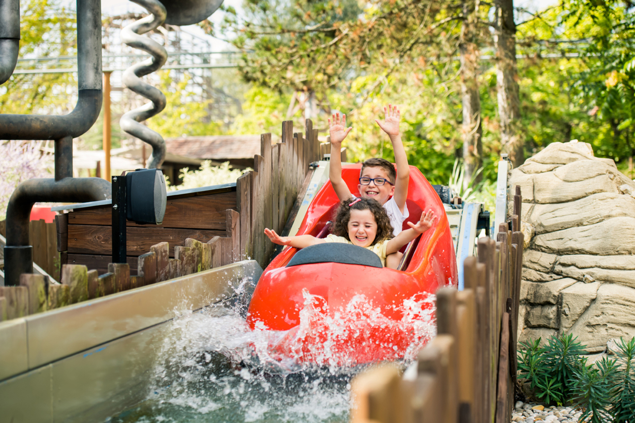
<instances>
[{"instance_id":1,"label":"laughing curly-haired girl with arms spread in the boat's front","mask_svg":"<svg viewBox=\"0 0 635 423\"><path fill-rule=\"evenodd\" d=\"M265 229L265 235L271 239L272 243L290 245L295 248L305 248L320 243L347 243L361 246L377 254L385 266L386 255L398 252L419 234L430 229L435 219L432 210L421 213L417 224L408 222L410 229L401 231L393 238L391 221L384 207L374 199L356 198L340 203L335 216L333 234L326 238L316 238L312 235L281 237L271 229Z\"/></svg>"}]
</instances>

